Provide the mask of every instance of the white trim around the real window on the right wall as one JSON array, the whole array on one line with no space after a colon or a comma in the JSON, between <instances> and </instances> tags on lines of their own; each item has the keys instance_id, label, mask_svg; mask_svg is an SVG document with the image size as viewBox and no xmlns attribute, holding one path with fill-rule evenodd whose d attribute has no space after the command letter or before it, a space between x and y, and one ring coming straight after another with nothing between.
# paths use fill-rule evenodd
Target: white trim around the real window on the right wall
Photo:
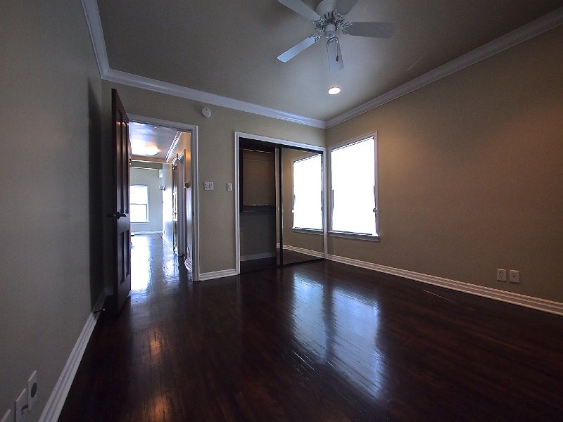
<instances>
[{"instance_id":1,"label":"white trim around the real window on the right wall","mask_svg":"<svg viewBox=\"0 0 563 422\"><path fill-rule=\"evenodd\" d=\"M364 141L365 139L368 138L373 138L374 139L374 178L375 178L375 186L374 186L374 200L375 200L375 231L376 234L372 235L372 234L365 234L365 233L351 233L348 231L338 231L338 230L333 230L332 229L332 210L334 207L334 203L333 203L333 198L332 198L332 151L342 148L344 146L349 146L352 145L353 143L358 143L360 141ZM329 203L329 213L328 213L328 218L327 218L327 223L329 224L329 229L328 229L328 235L330 237L337 237L337 238L353 238L353 239L357 239L357 240L363 240L363 241L373 241L373 242L379 242L381 239L381 236L379 235L381 233L381 228L379 226L379 198L377 195L377 191L379 191L378 186L379 186L379 178L377 176L377 131L375 132L371 132L369 134L365 134L362 136L358 136L358 138L354 138L354 139L350 139L348 141L343 141L341 143L336 143L336 145L333 145L331 147L329 147L329 151L327 153L328 155L328 160L329 160L329 178L328 178L328 189L327 192L329 193L328 195L328 203Z\"/></svg>"}]
</instances>

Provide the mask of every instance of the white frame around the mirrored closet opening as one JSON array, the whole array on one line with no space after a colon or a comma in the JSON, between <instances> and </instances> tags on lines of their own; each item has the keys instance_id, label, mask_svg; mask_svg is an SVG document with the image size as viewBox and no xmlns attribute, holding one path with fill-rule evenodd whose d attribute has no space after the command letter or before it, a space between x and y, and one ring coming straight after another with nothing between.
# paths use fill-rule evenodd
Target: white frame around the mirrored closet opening
<instances>
[{"instance_id":1,"label":"white frame around the mirrored closet opening","mask_svg":"<svg viewBox=\"0 0 563 422\"><path fill-rule=\"evenodd\" d=\"M286 139L271 138L270 136L260 136L254 134L246 134L244 132L234 132L234 238L236 250L236 274L241 274L241 222L239 207L239 139L248 138L256 141L264 141L275 143L281 146L295 146L297 148L305 148L308 150L319 151L322 153L322 236L324 246L324 259L329 257L328 252L328 229L327 229L327 148L324 146L315 146L308 143L288 141Z\"/></svg>"}]
</instances>

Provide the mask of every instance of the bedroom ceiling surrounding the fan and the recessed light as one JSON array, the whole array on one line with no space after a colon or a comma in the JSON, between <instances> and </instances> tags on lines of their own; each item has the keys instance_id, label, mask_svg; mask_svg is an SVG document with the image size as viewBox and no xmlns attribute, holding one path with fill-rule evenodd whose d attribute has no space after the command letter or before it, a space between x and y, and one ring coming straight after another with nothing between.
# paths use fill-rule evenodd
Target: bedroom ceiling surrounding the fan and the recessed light
<instances>
[{"instance_id":1,"label":"bedroom ceiling surrounding the fan and the recessed light","mask_svg":"<svg viewBox=\"0 0 563 422\"><path fill-rule=\"evenodd\" d=\"M305 0L315 7L316 1ZM277 0L97 2L111 70L327 121L563 6L562 0L359 0L348 21L398 23L391 39L342 35L277 56L314 25ZM560 10L559 10L560 11ZM341 94L329 96L337 84Z\"/></svg>"}]
</instances>

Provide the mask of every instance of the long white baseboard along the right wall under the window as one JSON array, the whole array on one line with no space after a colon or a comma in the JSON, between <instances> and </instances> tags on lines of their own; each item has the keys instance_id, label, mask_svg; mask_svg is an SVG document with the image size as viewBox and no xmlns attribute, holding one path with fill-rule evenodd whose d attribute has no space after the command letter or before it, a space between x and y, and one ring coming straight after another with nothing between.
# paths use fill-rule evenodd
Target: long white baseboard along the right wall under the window
<instances>
[{"instance_id":1,"label":"long white baseboard along the right wall under the window","mask_svg":"<svg viewBox=\"0 0 563 422\"><path fill-rule=\"evenodd\" d=\"M451 290L458 290L460 292L470 293L472 295L481 296L483 298L500 300L501 302L512 303L513 305L529 307L531 309L537 309L538 311L563 315L563 303L553 302L552 300L533 298L532 296L520 295L519 293L512 293L504 290L498 290L496 288L477 286L476 284L464 283L463 281L443 279L442 277L431 276L429 274L417 273L415 271L408 271L406 269L386 267L385 265L353 260L352 258L339 257L336 255L329 255L329 260L341 262L342 264L353 265L354 267L361 267L365 269L372 269L374 271L380 271L386 274L393 274L394 276L421 281L422 283L434 284L434 286L449 288Z\"/></svg>"}]
</instances>

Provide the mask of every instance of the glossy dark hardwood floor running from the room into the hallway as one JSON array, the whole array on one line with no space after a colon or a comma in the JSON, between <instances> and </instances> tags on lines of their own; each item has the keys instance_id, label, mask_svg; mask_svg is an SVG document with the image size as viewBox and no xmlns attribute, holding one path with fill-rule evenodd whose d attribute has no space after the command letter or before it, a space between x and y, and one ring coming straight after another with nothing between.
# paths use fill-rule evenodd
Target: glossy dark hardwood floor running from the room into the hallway
<instances>
[{"instance_id":1,"label":"glossy dark hardwood floor running from the room into the hallway","mask_svg":"<svg viewBox=\"0 0 563 422\"><path fill-rule=\"evenodd\" d=\"M193 283L133 242L60 422L563 418L560 316L335 262Z\"/></svg>"}]
</instances>

